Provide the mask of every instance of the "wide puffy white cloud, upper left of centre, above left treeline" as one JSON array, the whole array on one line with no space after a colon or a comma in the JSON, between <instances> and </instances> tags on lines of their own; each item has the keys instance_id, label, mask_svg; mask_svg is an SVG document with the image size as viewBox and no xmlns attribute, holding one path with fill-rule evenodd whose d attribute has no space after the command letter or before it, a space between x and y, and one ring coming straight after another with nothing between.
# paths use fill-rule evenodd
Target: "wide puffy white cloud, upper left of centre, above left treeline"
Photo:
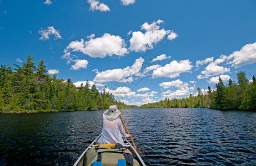
<instances>
[{"instance_id":1,"label":"wide puffy white cloud, upper left of centre, above left treeline","mask_svg":"<svg viewBox=\"0 0 256 166\"><path fill-rule=\"evenodd\" d=\"M70 51L80 51L92 58L105 58L107 55L124 56L128 53L124 39L108 33L105 33L101 38L90 39L86 42L84 39L81 39L80 42L72 41L64 50L65 55Z\"/></svg>"}]
</instances>

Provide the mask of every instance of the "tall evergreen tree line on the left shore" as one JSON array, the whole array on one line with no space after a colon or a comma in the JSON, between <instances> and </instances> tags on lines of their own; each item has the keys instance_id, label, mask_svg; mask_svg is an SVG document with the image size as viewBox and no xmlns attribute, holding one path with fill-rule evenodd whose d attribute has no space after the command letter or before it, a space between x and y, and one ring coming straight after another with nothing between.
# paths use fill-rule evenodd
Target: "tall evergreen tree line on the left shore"
<instances>
[{"instance_id":1,"label":"tall evergreen tree line on the left shore","mask_svg":"<svg viewBox=\"0 0 256 166\"><path fill-rule=\"evenodd\" d=\"M99 92L95 85L74 86L71 79L57 79L47 73L47 66L41 60L27 56L16 69L1 65L0 68L0 112L38 111L86 111L105 110L111 105L118 108L132 108L116 101L112 94Z\"/></svg>"}]
</instances>

